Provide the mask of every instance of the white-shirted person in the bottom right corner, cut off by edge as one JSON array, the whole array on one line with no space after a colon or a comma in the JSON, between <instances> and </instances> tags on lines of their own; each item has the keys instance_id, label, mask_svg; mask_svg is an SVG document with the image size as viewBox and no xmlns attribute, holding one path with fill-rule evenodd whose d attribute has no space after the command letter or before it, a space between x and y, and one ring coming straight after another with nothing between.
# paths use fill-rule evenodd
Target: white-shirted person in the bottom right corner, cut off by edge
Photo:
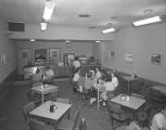
<instances>
[{"instance_id":1,"label":"white-shirted person in the bottom right corner, cut off by edge","mask_svg":"<svg viewBox=\"0 0 166 130\"><path fill-rule=\"evenodd\" d=\"M166 130L166 104L162 105L162 110L153 116L151 130Z\"/></svg>"}]
</instances>

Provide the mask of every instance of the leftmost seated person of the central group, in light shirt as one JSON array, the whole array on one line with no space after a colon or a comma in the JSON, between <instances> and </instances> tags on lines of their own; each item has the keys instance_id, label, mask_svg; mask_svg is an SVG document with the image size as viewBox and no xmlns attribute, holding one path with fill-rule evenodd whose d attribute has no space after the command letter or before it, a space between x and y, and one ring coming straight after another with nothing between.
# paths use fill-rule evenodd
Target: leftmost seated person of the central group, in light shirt
<instances>
[{"instance_id":1,"label":"leftmost seated person of the central group, in light shirt","mask_svg":"<svg viewBox=\"0 0 166 130\"><path fill-rule=\"evenodd\" d=\"M78 89L78 80L80 77L80 69L76 69L75 74L74 74L74 78L73 78L73 92L76 93L77 89Z\"/></svg>"}]
</instances>

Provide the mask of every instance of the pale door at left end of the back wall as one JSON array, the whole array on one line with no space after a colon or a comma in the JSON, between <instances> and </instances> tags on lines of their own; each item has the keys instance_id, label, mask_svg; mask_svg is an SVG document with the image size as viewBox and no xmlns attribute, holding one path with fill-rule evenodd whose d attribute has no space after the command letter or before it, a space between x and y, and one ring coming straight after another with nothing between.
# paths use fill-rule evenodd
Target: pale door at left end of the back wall
<instances>
[{"instance_id":1,"label":"pale door at left end of the back wall","mask_svg":"<svg viewBox=\"0 0 166 130\"><path fill-rule=\"evenodd\" d=\"M24 74L24 67L31 65L31 50L29 48L17 49L18 69L17 74Z\"/></svg>"}]
</instances>

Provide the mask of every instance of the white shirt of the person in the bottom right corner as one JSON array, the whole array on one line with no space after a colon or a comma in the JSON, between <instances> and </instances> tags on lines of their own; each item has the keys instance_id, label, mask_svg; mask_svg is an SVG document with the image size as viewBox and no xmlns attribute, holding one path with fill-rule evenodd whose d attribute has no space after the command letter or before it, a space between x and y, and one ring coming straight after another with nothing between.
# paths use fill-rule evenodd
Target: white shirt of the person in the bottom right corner
<instances>
[{"instance_id":1,"label":"white shirt of the person in the bottom right corner","mask_svg":"<svg viewBox=\"0 0 166 130\"><path fill-rule=\"evenodd\" d=\"M158 128L166 129L166 117L162 113L154 115L152 119L151 130L158 130Z\"/></svg>"}]
</instances>

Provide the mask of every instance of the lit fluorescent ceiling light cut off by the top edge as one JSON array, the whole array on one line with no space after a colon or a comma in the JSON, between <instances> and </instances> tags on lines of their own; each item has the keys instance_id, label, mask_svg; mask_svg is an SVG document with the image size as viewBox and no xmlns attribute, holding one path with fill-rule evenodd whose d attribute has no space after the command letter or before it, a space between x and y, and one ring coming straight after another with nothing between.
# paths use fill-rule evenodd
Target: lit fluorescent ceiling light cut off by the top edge
<instances>
[{"instance_id":1,"label":"lit fluorescent ceiling light cut off by the top edge","mask_svg":"<svg viewBox=\"0 0 166 130\"><path fill-rule=\"evenodd\" d=\"M55 1L54 0L46 0L44 4L44 11L43 11L43 20L48 21L51 18L51 15L53 13L55 6Z\"/></svg>"}]
</instances>

